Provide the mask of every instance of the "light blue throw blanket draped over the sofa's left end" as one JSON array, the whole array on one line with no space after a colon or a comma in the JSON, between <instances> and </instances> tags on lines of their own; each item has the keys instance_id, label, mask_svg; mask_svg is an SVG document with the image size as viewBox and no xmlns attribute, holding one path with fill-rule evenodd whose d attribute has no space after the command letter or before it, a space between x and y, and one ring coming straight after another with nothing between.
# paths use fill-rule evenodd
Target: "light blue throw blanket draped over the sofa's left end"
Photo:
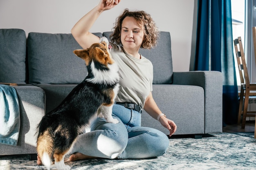
<instances>
[{"instance_id":1,"label":"light blue throw blanket draped over the sofa's left end","mask_svg":"<svg viewBox=\"0 0 256 170\"><path fill-rule=\"evenodd\" d=\"M20 107L15 88L0 84L0 143L17 146Z\"/></svg>"}]
</instances>

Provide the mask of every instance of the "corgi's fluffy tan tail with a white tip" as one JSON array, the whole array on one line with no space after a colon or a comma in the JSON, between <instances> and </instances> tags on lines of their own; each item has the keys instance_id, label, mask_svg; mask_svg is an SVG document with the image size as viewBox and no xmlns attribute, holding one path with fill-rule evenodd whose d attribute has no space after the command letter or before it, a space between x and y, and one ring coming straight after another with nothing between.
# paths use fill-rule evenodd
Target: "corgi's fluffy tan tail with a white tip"
<instances>
[{"instance_id":1,"label":"corgi's fluffy tan tail with a white tip","mask_svg":"<svg viewBox=\"0 0 256 170\"><path fill-rule=\"evenodd\" d=\"M50 170L54 150L54 139L48 130L39 133L36 149L43 165L47 168L47 170Z\"/></svg>"}]
</instances>

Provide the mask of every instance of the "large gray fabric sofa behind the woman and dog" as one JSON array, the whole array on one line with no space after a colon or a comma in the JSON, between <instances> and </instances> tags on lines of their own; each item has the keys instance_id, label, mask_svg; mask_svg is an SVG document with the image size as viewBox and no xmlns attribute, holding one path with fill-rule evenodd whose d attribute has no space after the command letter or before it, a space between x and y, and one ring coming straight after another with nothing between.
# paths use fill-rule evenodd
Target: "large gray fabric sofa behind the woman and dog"
<instances>
[{"instance_id":1,"label":"large gray fabric sofa behind the woman and dog","mask_svg":"<svg viewBox=\"0 0 256 170\"><path fill-rule=\"evenodd\" d=\"M109 37L110 32L94 34ZM81 46L71 34L29 33L26 38L21 29L0 29L0 82L18 84L13 87L18 93L21 118L18 145L0 144L0 155L36 153L39 121L87 74L85 63L73 54L74 49ZM153 97L177 124L175 135L222 132L220 72L173 72L168 32L161 32L156 48L141 49L140 53L153 63ZM168 134L145 111L141 116L141 126Z\"/></svg>"}]
</instances>

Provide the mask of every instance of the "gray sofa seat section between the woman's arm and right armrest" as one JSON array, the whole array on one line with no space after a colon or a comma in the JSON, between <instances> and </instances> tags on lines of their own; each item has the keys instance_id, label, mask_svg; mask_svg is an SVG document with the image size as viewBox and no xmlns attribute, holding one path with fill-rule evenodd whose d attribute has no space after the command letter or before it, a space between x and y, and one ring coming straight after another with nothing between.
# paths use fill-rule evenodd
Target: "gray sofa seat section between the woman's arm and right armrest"
<instances>
[{"instance_id":1,"label":"gray sofa seat section between the woman's arm and right armrest","mask_svg":"<svg viewBox=\"0 0 256 170\"><path fill-rule=\"evenodd\" d=\"M204 89L200 86L153 84L153 97L157 106L177 125L175 135L204 133ZM169 131L145 110L141 126L156 128L166 135Z\"/></svg>"}]
</instances>

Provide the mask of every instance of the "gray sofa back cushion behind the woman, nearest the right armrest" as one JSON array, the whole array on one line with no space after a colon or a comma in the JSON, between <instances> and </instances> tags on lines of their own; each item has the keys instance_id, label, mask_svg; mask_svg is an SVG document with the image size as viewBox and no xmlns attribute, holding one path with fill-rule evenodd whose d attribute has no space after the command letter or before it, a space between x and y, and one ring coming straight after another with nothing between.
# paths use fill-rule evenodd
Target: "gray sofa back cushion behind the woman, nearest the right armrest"
<instances>
[{"instance_id":1,"label":"gray sofa back cushion behind the woman, nearest the right armrest","mask_svg":"<svg viewBox=\"0 0 256 170\"><path fill-rule=\"evenodd\" d=\"M108 39L112 32L104 32ZM139 53L153 64L153 84L173 83L173 62L171 55L171 35L169 32L160 31L157 46L152 49L140 49Z\"/></svg>"}]
</instances>

